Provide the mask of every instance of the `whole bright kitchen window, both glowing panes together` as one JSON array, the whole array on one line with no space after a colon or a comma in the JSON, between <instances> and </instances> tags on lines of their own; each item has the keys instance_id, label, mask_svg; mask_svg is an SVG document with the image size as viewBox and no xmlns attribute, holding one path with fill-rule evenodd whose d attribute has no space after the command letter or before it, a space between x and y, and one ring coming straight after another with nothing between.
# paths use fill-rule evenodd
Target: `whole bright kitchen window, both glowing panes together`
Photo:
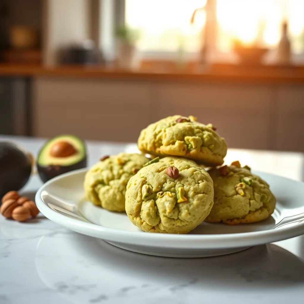
<instances>
[{"instance_id":1,"label":"whole bright kitchen window, both glowing panes together","mask_svg":"<svg viewBox=\"0 0 304 304\"><path fill-rule=\"evenodd\" d=\"M292 50L295 54L303 54L304 1L208 1L213 3L215 12L198 12L194 23L190 24L193 11L204 6L206 0L125 0L125 23L141 30L138 48L146 57L165 56L178 50L199 52L206 14L216 16L216 29L213 29L216 39L214 43L207 43L214 44L212 50L218 54L231 53L235 40L274 48L280 39L282 22L287 20Z\"/></svg>"}]
</instances>

